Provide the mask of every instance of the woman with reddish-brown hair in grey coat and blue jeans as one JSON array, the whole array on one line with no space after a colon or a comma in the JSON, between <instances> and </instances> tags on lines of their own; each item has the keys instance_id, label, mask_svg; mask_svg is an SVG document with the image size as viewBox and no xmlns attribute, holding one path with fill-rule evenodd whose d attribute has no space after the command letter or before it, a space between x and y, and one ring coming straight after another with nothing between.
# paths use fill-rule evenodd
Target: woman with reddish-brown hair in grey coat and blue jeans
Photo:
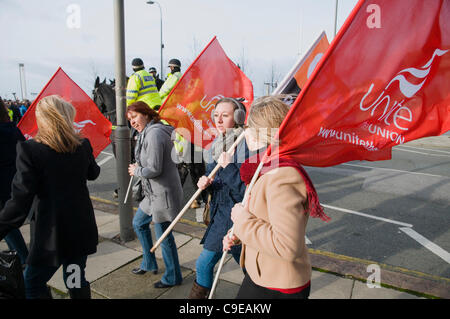
<instances>
[{"instance_id":1,"label":"woman with reddish-brown hair in grey coat and blue jeans","mask_svg":"<svg viewBox=\"0 0 450 319\"><path fill-rule=\"evenodd\" d=\"M133 228L141 242L143 260L139 268L133 269L136 275L147 271L158 271L153 246L150 223L153 221L156 237L159 238L181 210L183 189L176 164L171 158L174 128L164 125L159 114L144 102L137 101L128 106L127 117L138 132L135 148L136 163L128 172L139 177L145 195L133 218ZM180 285L182 281L180 263L175 240L170 233L161 243L166 272L155 288Z\"/></svg>"}]
</instances>

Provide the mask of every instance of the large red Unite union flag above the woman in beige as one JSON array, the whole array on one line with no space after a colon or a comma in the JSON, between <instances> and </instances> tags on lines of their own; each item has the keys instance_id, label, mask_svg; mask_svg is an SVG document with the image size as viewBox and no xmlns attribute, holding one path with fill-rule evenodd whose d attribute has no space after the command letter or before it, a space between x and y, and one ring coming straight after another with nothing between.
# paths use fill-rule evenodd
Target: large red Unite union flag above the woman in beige
<instances>
[{"instance_id":1,"label":"large red Unite union flag above the woman in beige","mask_svg":"<svg viewBox=\"0 0 450 319\"><path fill-rule=\"evenodd\" d=\"M304 165L391 158L450 129L450 1L356 5L286 119L272 156Z\"/></svg>"}]
</instances>

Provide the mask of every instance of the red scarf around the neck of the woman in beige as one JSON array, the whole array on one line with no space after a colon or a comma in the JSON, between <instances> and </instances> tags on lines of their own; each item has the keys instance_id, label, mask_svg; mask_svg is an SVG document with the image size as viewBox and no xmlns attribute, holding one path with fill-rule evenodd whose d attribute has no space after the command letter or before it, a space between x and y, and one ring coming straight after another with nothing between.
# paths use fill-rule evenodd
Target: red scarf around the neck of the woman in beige
<instances>
[{"instance_id":1,"label":"red scarf around the neck of the woman in beige","mask_svg":"<svg viewBox=\"0 0 450 319\"><path fill-rule=\"evenodd\" d=\"M245 185L250 184L252 177L255 174L255 171L261 161L262 156L263 154L261 153L255 154L246 159L244 163L242 163L240 173L241 179L245 183ZM272 164L273 164L272 162L265 163L261 169L261 172L259 173L259 176L264 175L277 167L286 167L286 166L294 167L305 181L306 194L308 200L307 211L309 212L309 215L313 218L319 217L320 219L326 222L331 220L331 218L324 213L323 208L319 203L319 196L317 196L316 189L314 188L314 185L311 179L309 178L308 174L306 173L305 169L299 163L289 158L280 158L278 165Z\"/></svg>"}]
</instances>

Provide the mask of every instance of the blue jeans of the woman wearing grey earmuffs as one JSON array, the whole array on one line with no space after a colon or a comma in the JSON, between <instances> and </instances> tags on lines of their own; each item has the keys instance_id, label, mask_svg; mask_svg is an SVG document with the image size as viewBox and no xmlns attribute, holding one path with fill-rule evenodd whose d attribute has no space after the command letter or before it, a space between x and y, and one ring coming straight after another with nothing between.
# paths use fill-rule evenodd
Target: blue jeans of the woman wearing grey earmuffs
<instances>
[{"instance_id":1,"label":"blue jeans of the woman wearing grey earmuffs","mask_svg":"<svg viewBox=\"0 0 450 319\"><path fill-rule=\"evenodd\" d=\"M239 264L240 252L232 250L231 254L233 255L234 260ZM211 289L214 280L214 266L222 258L222 255L222 252L203 248L195 263L197 284L204 288Z\"/></svg>"}]
</instances>

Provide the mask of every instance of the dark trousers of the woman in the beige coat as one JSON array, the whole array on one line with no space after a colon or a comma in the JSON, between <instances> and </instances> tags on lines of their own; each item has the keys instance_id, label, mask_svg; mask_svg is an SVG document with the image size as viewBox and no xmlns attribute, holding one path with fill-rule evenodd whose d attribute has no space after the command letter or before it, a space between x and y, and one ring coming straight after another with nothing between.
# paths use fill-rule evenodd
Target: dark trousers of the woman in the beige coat
<instances>
[{"instance_id":1,"label":"dark trousers of the woman in the beige coat","mask_svg":"<svg viewBox=\"0 0 450 319\"><path fill-rule=\"evenodd\" d=\"M255 284L248 274L245 275L236 299L308 299L311 286L295 294L285 294Z\"/></svg>"}]
</instances>

